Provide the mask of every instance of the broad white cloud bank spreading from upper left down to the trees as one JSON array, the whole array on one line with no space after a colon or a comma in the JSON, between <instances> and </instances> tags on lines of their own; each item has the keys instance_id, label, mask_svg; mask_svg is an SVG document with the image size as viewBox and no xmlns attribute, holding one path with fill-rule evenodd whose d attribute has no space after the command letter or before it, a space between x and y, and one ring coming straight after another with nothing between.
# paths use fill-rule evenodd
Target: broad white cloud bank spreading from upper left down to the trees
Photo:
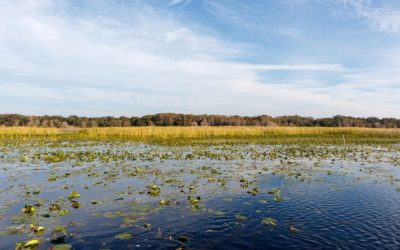
<instances>
[{"instance_id":1,"label":"broad white cloud bank spreading from upper left down to the trees","mask_svg":"<svg viewBox=\"0 0 400 250\"><path fill-rule=\"evenodd\" d=\"M326 116L372 114L377 107L371 100L378 96L359 89L382 81L380 75L352 74L338 64L239 63L235 58L247 53L247 45L200 32L148 6L135 6L124 19L119 13L70 17L60 14L63 5L24 3L4 1L0 10L0 97L7 98L0 100L0 113ZM264 71L331 71L347 78L335 90L310 78L263 82ZM395 97L378 89L380 97ZM364 97L369 99L357 99ZM397 104L382 105L399 114Z\"/></svg>"}]
</instances>

